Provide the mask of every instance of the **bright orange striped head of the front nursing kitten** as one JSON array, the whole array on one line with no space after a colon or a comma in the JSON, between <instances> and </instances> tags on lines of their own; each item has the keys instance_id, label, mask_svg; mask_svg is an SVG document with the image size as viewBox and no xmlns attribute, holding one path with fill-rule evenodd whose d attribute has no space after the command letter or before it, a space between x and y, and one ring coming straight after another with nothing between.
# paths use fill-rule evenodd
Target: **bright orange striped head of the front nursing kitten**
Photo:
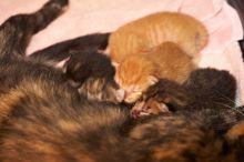
<instances>
[{"instance_id":1,"label":"bright orange striped head of the front nursing kitten","mask_svg":"<svg viewBox=\"0 0 244 162\"><path fill-rule=\"evenodd\" d=\"M115 82L126 103L135 102L141 94L157 81L157 65L145 54L126 57L118 67Z\"/></svg>"}]
</instances>

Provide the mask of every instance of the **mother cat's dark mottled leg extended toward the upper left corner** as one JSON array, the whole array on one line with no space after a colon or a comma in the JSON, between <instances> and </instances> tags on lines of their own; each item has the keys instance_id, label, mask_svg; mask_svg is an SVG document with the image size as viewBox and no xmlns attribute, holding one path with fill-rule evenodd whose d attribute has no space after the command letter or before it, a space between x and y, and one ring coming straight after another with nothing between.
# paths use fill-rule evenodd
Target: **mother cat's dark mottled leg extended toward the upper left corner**
<instances>
[{"instance_id":1,"label":"mother cat's dark mottled leg extended toward the upper left corner","mask_svg":"<svg viewBox=\"0 0 244 162\"><path fill-rule=\"evenodd\" d=\"M0 58L22 57L31 37L58 18L68 3L69 0L50 0L34 13L7 19L0 26Z\"/></svg>"}]
</instances>

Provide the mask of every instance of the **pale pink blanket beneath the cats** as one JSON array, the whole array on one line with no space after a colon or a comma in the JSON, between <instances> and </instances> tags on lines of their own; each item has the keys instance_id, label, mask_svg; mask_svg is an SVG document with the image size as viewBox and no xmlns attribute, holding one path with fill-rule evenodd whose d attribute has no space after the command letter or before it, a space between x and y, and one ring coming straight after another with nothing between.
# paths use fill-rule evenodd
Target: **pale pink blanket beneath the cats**
<instances>
[{"instance_id":1,"label":"pale pink blanket beneath the cats","mask_svg":"<svg viewBox=\"0 0 244 162\"><path fill-rule=\"evenodd\" d=\"M47 0L0 1L0 23L16 13L32 12ZM228 70L237 80L236 104L244 103L244 64L237 40L243 30L236 11L225 0L70 0L69 10L33 37L28 54L79 36L113 31L121 24L156 11L189 13L207 28L210 41L200 53L200 67Z\"/></svg>"}]
</instances>

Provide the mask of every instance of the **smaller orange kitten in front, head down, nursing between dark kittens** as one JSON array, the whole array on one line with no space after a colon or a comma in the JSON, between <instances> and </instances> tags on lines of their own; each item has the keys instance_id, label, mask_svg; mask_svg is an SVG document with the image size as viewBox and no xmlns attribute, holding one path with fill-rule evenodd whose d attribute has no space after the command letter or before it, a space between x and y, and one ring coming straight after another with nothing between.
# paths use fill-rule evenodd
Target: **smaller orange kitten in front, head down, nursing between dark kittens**
<instances>
[{"instance_id":1,"label":"smaller orange kitten in front, head down, nursing between dark kittens","mask_svg":"<svg viewBox=\"0 0 244 162\"><path fill-rule=\"evenodd\" d=\"M116 65L115 81L124 101L135 102L159 79L183 83L195 69L191 58L175 43L164 42L150 53L128 55Z\"/></svg>"}]
</instances>

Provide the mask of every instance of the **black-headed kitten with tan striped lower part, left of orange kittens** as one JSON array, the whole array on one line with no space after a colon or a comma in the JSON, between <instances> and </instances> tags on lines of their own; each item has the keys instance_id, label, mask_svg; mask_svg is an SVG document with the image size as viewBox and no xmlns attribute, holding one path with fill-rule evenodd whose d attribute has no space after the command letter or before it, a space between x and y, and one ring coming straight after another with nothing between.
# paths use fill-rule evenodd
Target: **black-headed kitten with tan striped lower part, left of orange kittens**
<instances>
[{"instance_id":1,"label":"black-headed kitten with tan striped lower part, left of orange kittens","mask_svg":"<svg viewBox=\"0 0 244 162\"><path fill-rule=\"evenodd\" d=\"M96 51L73 53L65 63L64 74L71 85L88 99L119 103L119 87L114 81L115 69L109 57Z\"/></svg>"}]
</instances>

